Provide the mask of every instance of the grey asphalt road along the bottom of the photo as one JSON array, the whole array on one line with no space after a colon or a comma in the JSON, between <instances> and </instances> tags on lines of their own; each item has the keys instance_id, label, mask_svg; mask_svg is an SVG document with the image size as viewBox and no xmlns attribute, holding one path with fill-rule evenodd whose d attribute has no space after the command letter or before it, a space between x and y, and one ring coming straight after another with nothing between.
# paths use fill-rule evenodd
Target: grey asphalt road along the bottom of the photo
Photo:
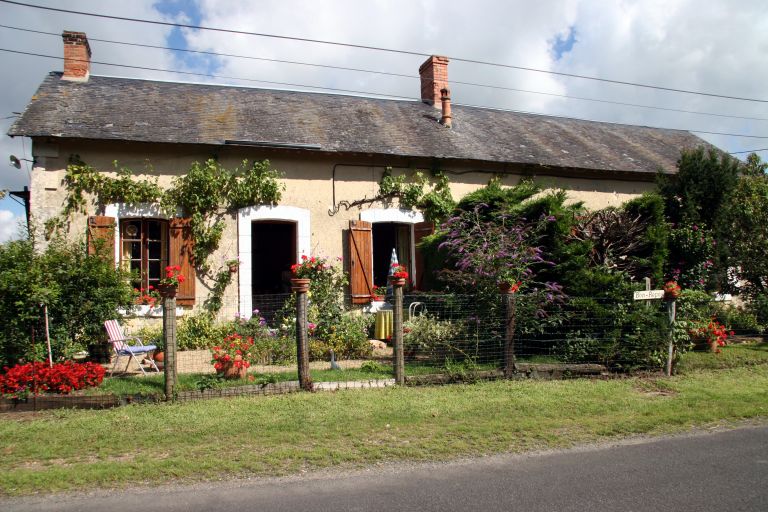
<instances>
[{"instance_id":1,"label":"grey asphalt road along the bottom of the photo","mask_svg":"<svg viewBox=\"0 0 768 512\"><path fill-rule=\"evenodd\" d=\"M448 464L0 501L34 511L768 511L768 427Z\"/></svg>"}]
</instances>

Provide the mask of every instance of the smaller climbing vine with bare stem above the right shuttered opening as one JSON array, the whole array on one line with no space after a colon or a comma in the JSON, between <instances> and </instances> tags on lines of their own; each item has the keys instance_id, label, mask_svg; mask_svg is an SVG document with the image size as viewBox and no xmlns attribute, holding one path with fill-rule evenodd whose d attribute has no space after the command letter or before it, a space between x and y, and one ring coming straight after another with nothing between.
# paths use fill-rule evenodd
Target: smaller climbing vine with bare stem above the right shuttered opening
<instances>
[{"instance_id":1,"label":"smaller climbing vine with bare stem above the right shuttered opening","mask_svg":"<svg viewBox=\"0 0 768 512\"><path fill-rule=\"evenodd\" d=\"M413 176L405 174L392 175L392 168L387 167L379 181L379 191L374 197L364 197L357 201L339 201L331 215L336 214L341 207L349 210L355 206L388 202L398 199L402 208L416 208L424 214L429 222L438 222L448 216L456 206L451 196L450 182L442 172L434 173L431 181L423 172L416 171Z\"/></svg>"}]
</instances>

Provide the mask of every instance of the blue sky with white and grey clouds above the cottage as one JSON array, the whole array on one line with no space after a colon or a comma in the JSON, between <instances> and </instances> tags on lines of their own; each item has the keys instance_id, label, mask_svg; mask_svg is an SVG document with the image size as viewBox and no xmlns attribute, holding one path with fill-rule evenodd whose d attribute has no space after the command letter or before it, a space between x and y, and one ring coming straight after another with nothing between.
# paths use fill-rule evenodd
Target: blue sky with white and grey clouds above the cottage
<instances>
[{"instance_id":1,"label":"blue sky with white and grey clouds above the cottage","mask_svg":"<svg viewBox=\"0 0 768 512\"><path fill-rule=\"evenodd\" d=\"M457 104L752 135L756 137L696 133L729 152L768 148L765 0L474 0L471 6L461 0L22 1L111 16L415 51L446 55L449 59L764 100L683 94L456 60L450 62L448 71L451 98ZM91 72L96 75L302 89L265 83L271 81L418 99L418 67L424 60L418 55L109 20L2 2L0 24L54 34L0 27L3 50L60 57L61 32L75 30L87 33L95 61L176 71L93 64ZM139 48L95 39L252 58ZM386 71L412 78L256 59ZM21 190L29 185L29 162L22 161L22 168L16 169L10 165L9 156L31 159L31 141L12 139L6 134L14 112L23 111L46 73L60 71L62 61L0 51L0 69L4 70L0 75L0 190ZM190 76L179 71L231 78ZM768 151L759 154L768 158ZM0 242L18 236L16 225L23 219L23 208L12 198L0 200Z\"/></svg>"}]
</instances>

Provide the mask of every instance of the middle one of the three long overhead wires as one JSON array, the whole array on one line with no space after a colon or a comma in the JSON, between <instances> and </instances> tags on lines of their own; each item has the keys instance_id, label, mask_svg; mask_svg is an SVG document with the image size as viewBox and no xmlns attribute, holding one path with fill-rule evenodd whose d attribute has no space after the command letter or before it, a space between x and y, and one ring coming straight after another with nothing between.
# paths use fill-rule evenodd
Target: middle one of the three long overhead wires
<instances>
[{"instance_id":1,"label":"middle one of the three long overhead wires","mask_svg":"<svg viewBox=\"0 0 768 512\"><path fill-rule=\"evenodd\" d=\"M53 36L53 37L61 37L61 34L56 32L46 32L43 30L34 30L29 28L21 28L21 27L12 27L9 25L2 25L0 24L0 28L6 28L11 30L18 30L22 32L30 32L34 34L42 34L47 36ZM378 70L372 70L372 69L363 69L363 68L353 68L353 67L346 67L346 66L334 66L330 64L317 64L312 62L301 62L301 61L293 61L293 60L284 60L284 59L270 59L266 57L254 57L251 55L237 55L232 53L221 53L221 52L213 52L213 51L207 51L207 50L192 50L189 48L174 48L171 46L159 46L159 45L152 45L152 44L145 44L145 43L134 43L134 42L128 42L128 41L115 41L112 39L99 39L96 37L89 37L89 41L95 41L95 42L101 42L101 43L108 43L108 44L117 44L117 45L125 45L125 46L134 46L134 47L140 47L140 48L152 48L152 49L158 49L158 50L169 50L174 52L184 52L184 53L194 53L199 55L211 55L216 57L231 57L231 58L237 58L237 59L249 59L249 60L258 60L263 62L276 62L280 64L294 64L294 65L300 65L300 66L311 66L311 67L318 67L318 68L324 68L324 69L336 69L341 71L355 71L360 73L371 73L376 75L384 75L384 76L394 76L394 77L400 77L400 78L408 78L408 79L418 79L418 75L407 75L404 73L393 73L388 71L378 71ZM714 116L714 117L724 117L724 118L732 118L732 119L744 119L749 121L768 121L768 118L765 117L750 117L750 116L737 116L733 114L719 114L715 112L701 112L697 110L685 110L685 109L679 109L679 108L672 108L672 107L659 107L655 105L642 105L638 103L628 103L623 101L613 101L613 100L603 100L603 99L597 99L597 98L586 98L582 96L570 96L567 94L557 94L557 93L550 93L550 92L543 92L543 91L532 91L528 89L519 89L516 87L505 87L501 85L490 85L490 84L481 84L481 83L474 83L474 82L463 82L459 80L451 80L452 84L458 84L458 85L468 85L472 87L484 87L488 89L497 89L497 90L504 90L504 91L513 91L513 92L522 92L526 94L538 94L543 96L552 96L557 98L566 98L566 99L573 99L573 100L579 100L579 101L590 101L595 103L606 103L609 105L621 105L621 106L627 106L627 107L636 107L636 108L647 108L647 109L654 109L654 110L663 110L666 112L679 112L683 114L696 114L696 115L702 115L702 116Z\"/></svg>"}]
</instances>

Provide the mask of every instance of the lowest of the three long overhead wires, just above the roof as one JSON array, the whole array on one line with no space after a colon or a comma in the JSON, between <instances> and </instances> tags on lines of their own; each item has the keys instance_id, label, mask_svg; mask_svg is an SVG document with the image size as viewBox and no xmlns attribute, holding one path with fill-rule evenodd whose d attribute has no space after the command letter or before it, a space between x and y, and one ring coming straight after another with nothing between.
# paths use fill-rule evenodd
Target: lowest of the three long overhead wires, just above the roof
<instances>
[{"instance_id":1,"label":"lowest of the three long overhead wires, just above the roof","mask_svg":"<svg viewBox=\"0 0 768 512\"><path fill-rule=\"evenodd\" d=\"M56 59L56 60L64 60L64 57L59 57L55 55L45 55L41 53L34 53L34 52L24 52L19 50L9 50L7 48L0 48L0 52L8 52L8 53L15 53L19 55L28 55L31 57L43 57L47 59ZM76 62L87 62L84 60L79 59L72 59ZM147 66L132 66L129 64L114 64L112 62L101 62L101 61L90 61L92 64L101 64L103 66L115 66L120 68L129 68L129 69L141 69L146 71L159 71L162 73L174 73L174 74L182 74L182 75L192 75L192 76L203 76L207 78L223 78L226 80L243 80L247 82L256 82L256 83L265 83L265 84L273 84L273 85L282 85L287 87L302 87L302 88L308 88L308 89L319 89L319 90L327 90L327 91L334 91L334 92L346 92L346 93L353 93L353 94L362 94L366 96L379 96L379 97L385 97L385 98L395 98L400 100L409 100L409 101L418 101L416 98L409 98L405 96L397 96L393 94L384 94L384 93L377 93L377 92L371 92L371 91L356 91L352 89L338 89L334 87L323 87L323 86L317 86L317 85L307 85L307 84L296 84L296 83L288 83L288 82L274 82L269 80L257 80L253 78L244 78L244 77L236 77L236 76L225 76L225 75L214 75L212 73L197 73L193 71L177 71L173 69L163 69L163 68L152 68ZM456 103L457 106L466 106L466 107L474 107L474 108L484 108L488 110L506 110L509 112L518 112L523 114L534 114L534 115L540 115L545 117L555 117L560 119L574 119L578 121L590 121L590 122L606 122L606 121L599 121L596 119L585 119L585 118L572 118L567 116L558 116L558 115L552 115L552 114L544 114L541 112L521 112L517 110L510 110L510 109L500 109L500 108L493 108L488 107L484 105L465 105L461 103ZM704 133L709 135L724 135L728 137L747 137L752 139L768 139L768 135L749 135L749 134L741 134L741 133L723 133L723 132L710 132L710 131L704 131L704 130L694 130L689 128L667 128L663 126L647 126L647 128L655 128L660 130L677 130L677 131L687 131L692 133Z\"/></svg>"}]
</instances>

